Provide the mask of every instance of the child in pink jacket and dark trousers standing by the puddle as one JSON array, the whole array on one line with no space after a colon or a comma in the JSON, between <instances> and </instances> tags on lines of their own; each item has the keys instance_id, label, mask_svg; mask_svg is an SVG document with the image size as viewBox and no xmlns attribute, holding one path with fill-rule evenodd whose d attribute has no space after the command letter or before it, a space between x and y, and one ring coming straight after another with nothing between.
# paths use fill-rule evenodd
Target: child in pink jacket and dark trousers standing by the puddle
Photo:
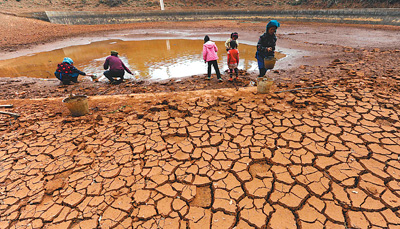
<instances>
[{"instance_id":1,"label":"child in pink jacket and dark trousers standing by the puddle","mask_svg":"<svg viewBox=\"0 0 400 229\"><path fill-rule=\"evenodd\" d=\"M210 38L208 35L204 37L204 45L203 45L203 59L204 62L208 63L208 68L207 68L207 74L208 77L207 79L211 79L211 65L214 66L215 73L217 74L217 78L219 81L222 81L221 78L221 73L219 72L218 68L218 48L215 45L214 42L210 41Z\"/></svg>"}]
</instances>

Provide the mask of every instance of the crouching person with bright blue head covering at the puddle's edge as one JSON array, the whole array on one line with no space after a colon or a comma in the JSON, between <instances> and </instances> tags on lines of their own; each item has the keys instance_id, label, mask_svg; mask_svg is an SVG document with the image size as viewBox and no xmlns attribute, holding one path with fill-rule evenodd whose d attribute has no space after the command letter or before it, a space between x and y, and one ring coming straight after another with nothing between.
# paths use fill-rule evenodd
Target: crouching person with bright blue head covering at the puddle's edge
<instances>
[{"instance_id":1,"label":"crouching person with bright blue head covering at the puddle's edge","mask_svg":"<svg viewBox=\"0 0 400 229\"><path fill-rule=\"evenodd\" d=\"M63 62L58 64L57 70L54 75L59 79L63 85L69 85L72 83L78 83L79 75L86 75L86 73L79 71L74 65L74 61L65 57Z\"/></svg>"}]
</instances>

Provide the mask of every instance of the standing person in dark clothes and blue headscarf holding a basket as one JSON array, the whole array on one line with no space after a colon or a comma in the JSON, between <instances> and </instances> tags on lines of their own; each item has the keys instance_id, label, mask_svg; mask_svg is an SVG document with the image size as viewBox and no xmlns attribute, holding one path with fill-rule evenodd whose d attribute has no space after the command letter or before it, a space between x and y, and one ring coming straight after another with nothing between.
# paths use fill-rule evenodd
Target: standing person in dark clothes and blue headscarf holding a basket
<instances>
[{"instance_id":1,"label":"standing person in dark clothes and blue headscarf holding a basket","mask_svg":"<svg viewBox=\"0 0 400 229\"><path fill-rule=\"evenodd\" d=\"M258 68L260 75L258 77L264 77L267 69L264 65L265 58L275 57L275 46L276 46L276 30L279 28L280 23L276 20L268 22L266 32L260 36L257 43L256 58L258 62Z\"/></svg>"}]
</instances>

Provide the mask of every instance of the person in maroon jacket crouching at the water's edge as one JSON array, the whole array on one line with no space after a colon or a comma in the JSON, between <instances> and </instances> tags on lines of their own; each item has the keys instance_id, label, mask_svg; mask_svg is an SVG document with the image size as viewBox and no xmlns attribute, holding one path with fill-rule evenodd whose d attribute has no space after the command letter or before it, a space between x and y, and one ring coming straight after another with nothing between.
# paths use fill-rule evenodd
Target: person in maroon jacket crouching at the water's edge
<instances>
[{"instance_id":1,"label":"person in maroon jacket crouching at the water's edge","mask_svg":"<svg viewBox=\"0 0 400 229\"><path fill-rule=\"evenodd\" d=\"M127 71L129 74L133 75L131 70L129 70L121 59L118 57L117 51L111 51L111 56L107 57L103 65L104 69L107 70L103 74L110 80L112 84L120 84L124 81L124 74ZM116 78L119 78L116 80Z\"/></svg>"}]
</instances>

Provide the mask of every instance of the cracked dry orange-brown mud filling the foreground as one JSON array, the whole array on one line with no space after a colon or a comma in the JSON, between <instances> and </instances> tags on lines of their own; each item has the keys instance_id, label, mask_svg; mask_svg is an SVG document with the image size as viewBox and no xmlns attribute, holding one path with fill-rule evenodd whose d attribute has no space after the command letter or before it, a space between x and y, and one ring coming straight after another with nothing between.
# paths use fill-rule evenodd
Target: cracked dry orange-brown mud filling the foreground
<instances>
[{"instance_id":1,"label":"cracked dry orange-brown mud filling the foreground","mask_svg":"<svg viewBox=\"0 0 400 229\"><path fill-rule=\"evenodd\" d=\"M399 228L398 70L326 69L328 88L103 98L77 118L32 100L2 123L0 228Z\"/></svg>"}]
</instances>

